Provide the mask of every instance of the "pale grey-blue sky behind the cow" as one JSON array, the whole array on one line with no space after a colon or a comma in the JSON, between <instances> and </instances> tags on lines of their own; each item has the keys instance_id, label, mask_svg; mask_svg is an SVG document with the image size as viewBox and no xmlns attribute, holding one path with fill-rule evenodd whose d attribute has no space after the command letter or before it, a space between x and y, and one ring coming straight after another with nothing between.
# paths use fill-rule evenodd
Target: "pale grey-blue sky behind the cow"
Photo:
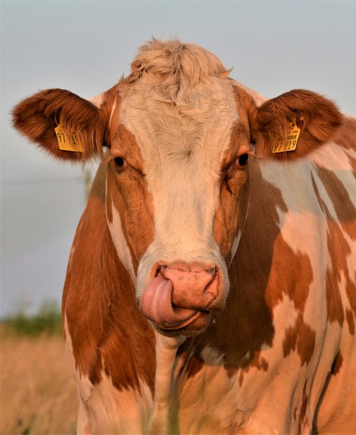
<instances>
[{"instance_id":1,"label":"pale grey-blue sky behind the cow","mask_svg":"<svg viewBox=\"0 0 356 435\"><path fill-rule=\"evenodd\" d=\"M355 1L1 1L1 316L60 302L85 206L80 166L11 130L11 108L45 88L105 91L151 36L204 46L266 96L307 88L356 115Z\"/></svg>"}]
</instances>

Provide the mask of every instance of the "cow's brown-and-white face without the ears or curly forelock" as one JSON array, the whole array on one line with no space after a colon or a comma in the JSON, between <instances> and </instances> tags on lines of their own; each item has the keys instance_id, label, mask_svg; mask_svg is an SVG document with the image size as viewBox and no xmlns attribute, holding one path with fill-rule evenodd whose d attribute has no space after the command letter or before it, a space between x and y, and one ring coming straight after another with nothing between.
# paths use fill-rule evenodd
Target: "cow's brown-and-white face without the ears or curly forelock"
<instances>
[{"instance_id":1,"label":"cow's brown-and-white face without the ears or curly forelock","mask_svg":"<svg viewBox=\"0 0 356 435\"><path fill-rule=\"evenodd\" d=\"M142 311L192 332L224 307L251 145L229 80L201 84L194 105L169 102L165 86L152 98L155 86L147 74L116 97L107 214L120 257L126 235Z\"/></svg>"}]
</instances>

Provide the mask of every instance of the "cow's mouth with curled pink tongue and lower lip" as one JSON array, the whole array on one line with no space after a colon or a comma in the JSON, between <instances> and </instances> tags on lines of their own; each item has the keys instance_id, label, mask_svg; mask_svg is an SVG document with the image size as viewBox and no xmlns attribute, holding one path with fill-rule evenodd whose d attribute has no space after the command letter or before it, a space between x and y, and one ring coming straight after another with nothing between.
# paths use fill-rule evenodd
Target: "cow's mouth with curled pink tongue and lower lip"
<instances>
[{"instance_id":1,"label":"cow's mouth with curled pink tongue and lower lip","mask_svg":"<svg viewBox=\"0 0 356 435\"><path fill-rule=\"evenodd\" d=\"M173 285L157 275L144 290L139 308L162 333L198 333L209 324L207 310L178 307L172 302Z\"/></svg>"}]
</instances>

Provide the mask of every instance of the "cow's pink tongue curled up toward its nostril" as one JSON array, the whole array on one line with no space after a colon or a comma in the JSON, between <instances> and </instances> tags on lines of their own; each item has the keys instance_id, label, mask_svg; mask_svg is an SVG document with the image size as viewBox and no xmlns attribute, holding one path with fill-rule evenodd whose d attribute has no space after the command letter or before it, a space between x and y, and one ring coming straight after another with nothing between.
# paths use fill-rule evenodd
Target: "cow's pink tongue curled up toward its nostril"
<instances>
[{"instance_id":1,"label":"cow's pink tongue curled up toward its nostril","mask_svg":"<svg viewBox=\"0 0 356 435\"><path fill-rule=\"evenodd\" d=\"M160 327L177 327L197 313L194 309L173 307L172 292L172 282L159 275L150 282L141 297L141 311Z\"/></svg>"}]
</instances>

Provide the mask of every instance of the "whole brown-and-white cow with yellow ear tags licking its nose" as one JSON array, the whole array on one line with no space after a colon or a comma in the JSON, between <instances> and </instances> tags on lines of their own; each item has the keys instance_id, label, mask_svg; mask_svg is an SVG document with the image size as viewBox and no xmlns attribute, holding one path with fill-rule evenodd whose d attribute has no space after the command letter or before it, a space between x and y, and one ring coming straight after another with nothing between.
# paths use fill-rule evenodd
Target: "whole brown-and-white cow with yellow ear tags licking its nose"
<instances>
[{"instance_id":1,"label":"whole brown-and-white cow with yellow ear tags licking its nose","mask_svg":"<svg viewBox=\"0 0 356 435\"><path fill-rule=\"evenodd\" d=\"M14 108L54 158L100 158L63 291L78 434L356 429L356 120L230 73L152 39L92 100Z\"/></svg>"}]
</instances>

